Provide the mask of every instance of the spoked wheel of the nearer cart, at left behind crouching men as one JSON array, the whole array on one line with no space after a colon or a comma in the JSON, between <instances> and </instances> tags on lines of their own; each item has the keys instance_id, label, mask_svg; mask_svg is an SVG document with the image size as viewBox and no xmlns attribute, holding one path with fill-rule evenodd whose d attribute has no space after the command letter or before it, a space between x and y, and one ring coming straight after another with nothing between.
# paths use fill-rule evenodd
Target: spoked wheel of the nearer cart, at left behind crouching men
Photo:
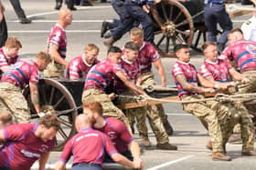
<instances>
[{"instance_id":1,"label":"spoked wheel of the nearer cart, at left behind crouching men","mask_svg":"<svg viewBox=\"0 0 256 170\"><path fill-rule=\"evenodd\" d=\"M54 150L61 150L69 138L76 133L74 121L78 115L77 106L67 88L56 80L41 79L38 91L42 108L55 110L59 117L60 129ZM36 110L31 103L29 87L24 90L23 94L27 99L32 118L37 118Z\"/></svg>"}]
</instances>

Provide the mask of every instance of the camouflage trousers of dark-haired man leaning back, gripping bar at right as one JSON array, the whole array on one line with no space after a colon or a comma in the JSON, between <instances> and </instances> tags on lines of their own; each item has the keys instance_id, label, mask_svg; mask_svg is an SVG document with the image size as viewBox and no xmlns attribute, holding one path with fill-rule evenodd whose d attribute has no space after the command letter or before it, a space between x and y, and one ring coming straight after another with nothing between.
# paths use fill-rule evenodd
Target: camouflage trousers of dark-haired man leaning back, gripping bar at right
<instances>
[{"instance_id":1,"label":"camouflage trousers of dark-haired man leaning back, gripping bar at right","mask_svg":"<svg viewBox=\"0 0 256 170\"><path fill-rule=\"evenodd\" d=\"M184 97L182 100L193 101L203 98L203 95L190 95ZM183 104L183 108L189 114L196 115L197 118L204 120L208 124L208 133L211 136L212 142L212 152L223 153L226 133L229 132L223 125L229 125L227 123L229 123L232 116L232 113L229 111L229 106L215 101L207 101Z\"/></svg>"}]
</instances>

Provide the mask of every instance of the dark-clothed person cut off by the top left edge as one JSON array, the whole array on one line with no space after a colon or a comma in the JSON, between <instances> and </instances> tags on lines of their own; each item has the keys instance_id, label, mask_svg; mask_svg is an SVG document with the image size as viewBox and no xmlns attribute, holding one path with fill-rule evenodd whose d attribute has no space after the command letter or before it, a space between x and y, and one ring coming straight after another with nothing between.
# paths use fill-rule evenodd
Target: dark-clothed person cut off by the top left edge
<instances>
[{"instance_id":1,"label":"dark-clothed person cut off by the top left edge","mask_svg":"<svg viewBox=\"0 0 256 170\"><path fill-rule=\"evenodd\" d=\"M5 6L2 4L0 0L0 47L5 45L5 41L8 37L4 12L5 12Z\"/></svg>"}]
</instances>

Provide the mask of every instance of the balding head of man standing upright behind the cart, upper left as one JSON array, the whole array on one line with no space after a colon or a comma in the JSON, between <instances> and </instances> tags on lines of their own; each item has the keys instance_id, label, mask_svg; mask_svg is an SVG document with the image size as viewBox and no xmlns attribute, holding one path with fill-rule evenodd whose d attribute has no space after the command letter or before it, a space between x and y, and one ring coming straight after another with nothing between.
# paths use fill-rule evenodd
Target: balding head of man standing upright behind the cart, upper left
<instances>
[{"instance_id":1,"label":"balding head of man standing upright behind the cart, upper left","mask_svg":"<svg viewBox=\"0 0 256 170\"><path fill-rule=\"evenodd\" d=\"M71 24L73 20L72 13L67 8L61 8L59 10L59 25L62 25L63 28Z\"/></svg>"}]
</instances>

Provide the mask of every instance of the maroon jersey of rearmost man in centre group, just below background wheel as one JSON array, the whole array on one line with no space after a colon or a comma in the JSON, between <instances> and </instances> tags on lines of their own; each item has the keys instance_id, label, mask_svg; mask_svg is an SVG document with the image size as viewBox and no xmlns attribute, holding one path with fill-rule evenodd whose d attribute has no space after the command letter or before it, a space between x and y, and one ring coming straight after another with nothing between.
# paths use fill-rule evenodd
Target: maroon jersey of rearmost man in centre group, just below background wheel
<instances>
[{"instance_id":1,"label":"maroon jersey of rearmost man in centre group, just below background wheel","mask_svg":"<svg viewBox=\"0 0 256 170\"><path fill-rule=\"evenodd\" d=\"M160 59L160 55L155 49L154 45L144 42L140 48L137 61L140 66L140 72L142 74L150 72L152 68L152 63Z\"/></svg>"}]
</instances>

